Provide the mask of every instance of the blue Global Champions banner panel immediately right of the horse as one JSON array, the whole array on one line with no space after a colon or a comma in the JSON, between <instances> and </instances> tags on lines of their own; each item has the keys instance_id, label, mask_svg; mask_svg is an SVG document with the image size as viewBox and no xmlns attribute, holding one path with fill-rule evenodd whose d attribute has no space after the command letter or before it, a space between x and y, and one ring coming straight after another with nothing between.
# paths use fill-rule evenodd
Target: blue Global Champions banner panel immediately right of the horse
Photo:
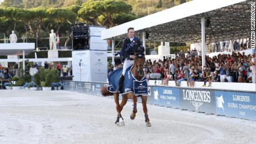
<instances>
[{"instance_id":1,"label":"blue Global Champions banner panel immediately right of the horse","mask_svg":"<svg viewBox=\"0 0 256 144\"><path fill-rule=\"evenodd\" d=\"M150 87L150 102L155 105L180 108L180 95L178 88Z\"/></svg>"}]
</instances>

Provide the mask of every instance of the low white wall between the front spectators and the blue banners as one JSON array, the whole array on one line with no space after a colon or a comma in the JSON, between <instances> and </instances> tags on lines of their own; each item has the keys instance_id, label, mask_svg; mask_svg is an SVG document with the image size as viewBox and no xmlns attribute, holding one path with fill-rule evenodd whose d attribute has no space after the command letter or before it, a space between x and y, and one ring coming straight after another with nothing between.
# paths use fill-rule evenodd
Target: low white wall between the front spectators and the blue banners
<instances>
[{"instance_id":1,"label":"low white wall between the front spectators and the blue banners","mask_svg":"<svg viewBox=\"0 0 256 144\"><path fill-rule=\"evenodd\" d=\"M149 80L149 85L152 86L164 86L160 80ZM237 82L212 82L211 87L208 86L208 82L206 83L206 87L202 87L204 82L195 82L195 88L209 88L209 89L217 89L217 90L235 90L235 91L256 91L255 83L237 83ZM175 81L169 81L168 86L175 86ZM186 81L181 82L180 87L188 87Z\"/></svg>"}]
</instances>

